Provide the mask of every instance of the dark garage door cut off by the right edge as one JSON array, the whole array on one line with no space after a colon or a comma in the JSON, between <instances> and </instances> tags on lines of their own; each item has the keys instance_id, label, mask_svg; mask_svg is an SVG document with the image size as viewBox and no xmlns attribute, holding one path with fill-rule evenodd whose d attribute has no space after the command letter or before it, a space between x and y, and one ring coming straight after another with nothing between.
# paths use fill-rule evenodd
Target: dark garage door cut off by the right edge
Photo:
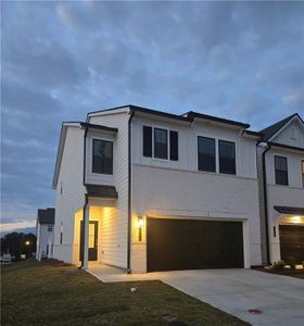
<instances>
[{"instance_id":1,"label":"dark garage door cut off by the right edge","mask_svg":"<svg viewBox=\"0 0 304 326\"><path fill-rule=\"evenodd\" d=\"M296 263L304 261L304 226L280 225L281 260L293 258Z\"/></svg>"}]
</instances>

